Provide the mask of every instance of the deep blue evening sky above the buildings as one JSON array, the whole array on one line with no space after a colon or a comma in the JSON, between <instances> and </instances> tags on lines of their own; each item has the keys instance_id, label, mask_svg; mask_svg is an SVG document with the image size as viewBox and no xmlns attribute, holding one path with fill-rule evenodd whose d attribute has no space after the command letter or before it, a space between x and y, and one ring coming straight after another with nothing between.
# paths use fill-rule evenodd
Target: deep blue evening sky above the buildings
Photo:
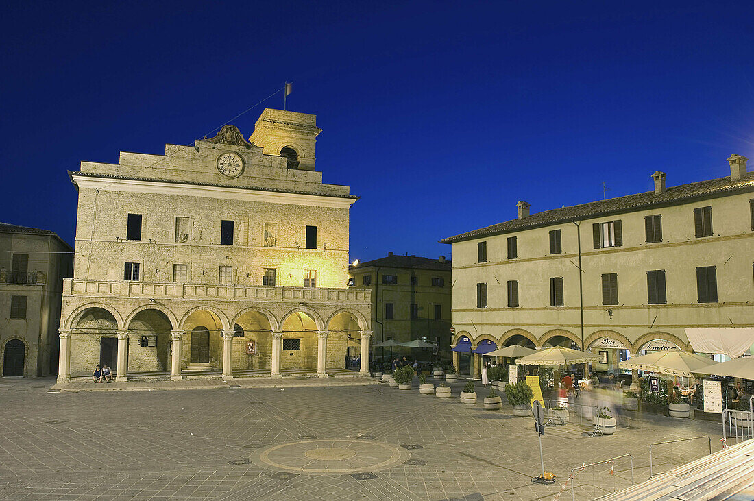
<instances>
[{"instance_id":1,"label":"deep blue evening sky above the buildings","mask_svg":"<svg viewBox=\"0 0 754 501\"><path fill-rule=\"evenodd\" d=\"M192 144L286 80L362 197L362 260L754 159L754 2L216 3L5 5L0 221L72 243L66 170Z\"/></svg>"}]
</instances>

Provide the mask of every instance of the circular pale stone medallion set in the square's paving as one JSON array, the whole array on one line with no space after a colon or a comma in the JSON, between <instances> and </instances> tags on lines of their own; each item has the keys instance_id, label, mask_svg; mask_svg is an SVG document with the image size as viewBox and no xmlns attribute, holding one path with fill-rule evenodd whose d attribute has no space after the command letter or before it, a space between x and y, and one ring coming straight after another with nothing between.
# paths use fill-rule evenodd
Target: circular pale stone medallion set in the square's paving
<instances>
[{"instance_id":1,"label":"circular pale stone medallion set in the square's paving","mask_svg":"<svg viewBox=\"0 0 754 501\"><path fill-rule=\"evenodd\" d=\"M403 463L409 451L370 440L315 439L287 442L251 454L256 466L309 474L374 472Z\"/></svg>"}]
</instances>

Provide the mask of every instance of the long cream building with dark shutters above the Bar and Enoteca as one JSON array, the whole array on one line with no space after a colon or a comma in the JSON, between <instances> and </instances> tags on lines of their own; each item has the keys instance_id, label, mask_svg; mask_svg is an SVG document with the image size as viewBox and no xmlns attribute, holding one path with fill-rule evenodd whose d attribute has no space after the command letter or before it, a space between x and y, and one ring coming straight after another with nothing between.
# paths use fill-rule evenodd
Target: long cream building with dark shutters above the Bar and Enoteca
<instances>
[{"instance_id":1,"label":"long cream building with dark shutters above the Bar and Enoteca","mask_svg":"<svg viewBox=\"0 0 754 501\"><path fill-rule=\"evenodd\" d=\"M728 161L730 177L666 188L665 174L654 173L654 191L538 214L519 203L517 219L442 240L452 245L453 345L467 337L472 348L484 340L498 347L581 347L579 254L584 345L608 352L598 370L617 368L618 350L635 354L655 340L688 349L686 327L754 327L754 173L746 172L745 157ZM701 234L700 211L711 214ZM653 216L661 232L650 237ZM619 221L610 228L621 241L605 246L599 231L611 221ZM556 249L553 231L559 232ZM697 268L713 268L715 298L701 297ZM664 301L649 297L648 272L655 270L664 271ZM605 291L611 274L617 287ZM562 280L562 305L553 306L553 277ZM509 304L508 281L517 283L515 304ZM486 289L486 304L477 303L477 284Z\"/></svg>"}]
</instances>

